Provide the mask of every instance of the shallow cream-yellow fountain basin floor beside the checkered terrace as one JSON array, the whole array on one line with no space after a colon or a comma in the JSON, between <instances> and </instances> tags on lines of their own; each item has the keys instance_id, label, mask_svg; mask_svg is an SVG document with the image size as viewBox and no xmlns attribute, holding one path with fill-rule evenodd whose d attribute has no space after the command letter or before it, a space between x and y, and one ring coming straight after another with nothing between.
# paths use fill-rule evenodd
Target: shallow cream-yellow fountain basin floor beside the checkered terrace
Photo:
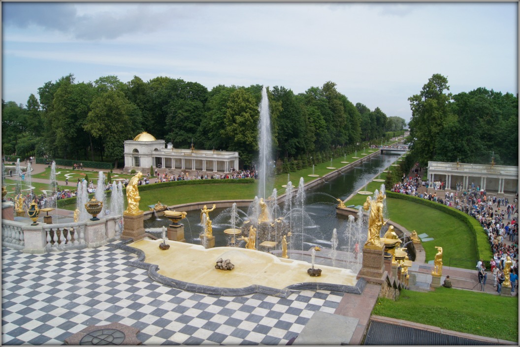
<instances>
[{"instance_id":1,"label":"shallow cream-yellow fountain basin floor beside the checkered terrace","mask_svg":"<svg viewBox=\"0 0 520 347\"><path fill-rule=\"evenodd\" d=\"M310 264L305 261L278 258L270 253L245 248L215 247L205 249L200 245L170 242L170 249L160 251L161 240L142 239L129 244L144 252L146 263L159 266L157 273L176 282L211 287L213 290L240 289L262 286L280 292L298 285L314 288L330 288L356 292L356 274L351 270L320 265L319 278L309 277ZM215 269L219 258L229 259L235 265L233 271ZM313 286L311 286L313 287ZM354 287L354 288L353 288ZM326 289L329 290L329 289ZM241 295L245 295L242 293Z\"/></svg>"}]
</instances>

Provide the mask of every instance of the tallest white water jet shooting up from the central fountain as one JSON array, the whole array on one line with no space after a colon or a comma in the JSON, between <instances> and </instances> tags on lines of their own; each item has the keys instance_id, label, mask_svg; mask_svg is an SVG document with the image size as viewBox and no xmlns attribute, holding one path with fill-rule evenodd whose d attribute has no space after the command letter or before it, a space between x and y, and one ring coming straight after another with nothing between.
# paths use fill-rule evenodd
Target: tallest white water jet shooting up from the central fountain
<instances>
[{"instance_id":1,"label":"tallest white water jet shooting up from the central fountain","mask_svg":"<svg viewBox=\"0 0 520 347\"><path fill-rule=\"evenodd\" d=\"M268 177L273 175L272 165L272 138L271 138L271 115L269 112L269 100L267 97L267 89L262 88L262 101L258 108L260 118L258 120L258 197L267 197L267 191L270 191L268 185Z\"/></svg>"}]
</instances>

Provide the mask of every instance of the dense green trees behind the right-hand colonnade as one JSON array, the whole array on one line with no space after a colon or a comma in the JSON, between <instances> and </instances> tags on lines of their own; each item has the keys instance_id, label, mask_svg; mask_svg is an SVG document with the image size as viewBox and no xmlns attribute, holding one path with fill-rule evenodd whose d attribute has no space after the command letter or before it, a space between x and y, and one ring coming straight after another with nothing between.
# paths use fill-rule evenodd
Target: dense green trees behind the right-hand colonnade
<instances>
[{"instance_id":1,"label":"dense green trees behind the right-hand colonnade","mask_svg":"<svg viewBox=\"0 0 520 347\"><path fill-rule=\"evenodd\" d=\"M434 74L408 100L412 156L428 161L518 165L518 94L477 88L457 95Z\"/></svg>"}]
</instances>

